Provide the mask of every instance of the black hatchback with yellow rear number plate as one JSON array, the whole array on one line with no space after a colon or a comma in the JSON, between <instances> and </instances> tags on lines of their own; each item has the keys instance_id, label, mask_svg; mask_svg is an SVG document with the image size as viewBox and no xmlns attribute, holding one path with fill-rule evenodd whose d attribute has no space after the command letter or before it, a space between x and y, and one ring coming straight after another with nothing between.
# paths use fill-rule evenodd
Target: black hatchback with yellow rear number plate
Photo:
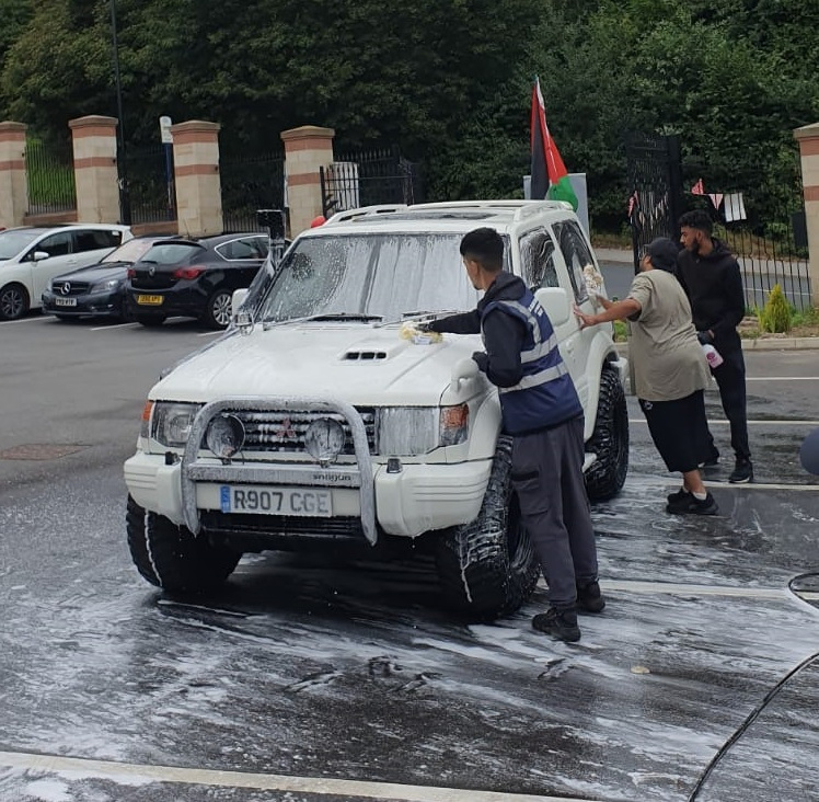
<instances>
[{"instance_id":1,"label":"black hatchback with yellow rear number plate","mask_svg":"<svg viewBox=\"0 0 819 802\"><path fill-rule=\"evenodd\" d=\"M142 325L184 317L226 329L233 290L250 286L268 250L258 232L159 242L128 271L128 314Z\"/></svg>"}]
</instances>

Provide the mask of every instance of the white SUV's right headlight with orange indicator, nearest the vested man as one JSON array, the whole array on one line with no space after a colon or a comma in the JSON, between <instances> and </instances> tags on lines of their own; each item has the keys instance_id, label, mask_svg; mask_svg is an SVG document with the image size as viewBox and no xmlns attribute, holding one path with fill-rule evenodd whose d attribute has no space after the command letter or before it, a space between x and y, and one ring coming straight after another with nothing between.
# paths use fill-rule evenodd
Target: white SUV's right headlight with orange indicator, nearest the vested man
<instances>
[{"instance_id":1,"label":"white SUV's right headlight with orange indicator, nearest the vested man","mask_svg":"<svg viewBox=\"0 0 819 802\"><path fill-rule=\"evenodd\" d=\"M417 457L439 446L465 443L469 406L387 406L379 410L378 452L384 457Z\"/></svg>"}]
</instances>

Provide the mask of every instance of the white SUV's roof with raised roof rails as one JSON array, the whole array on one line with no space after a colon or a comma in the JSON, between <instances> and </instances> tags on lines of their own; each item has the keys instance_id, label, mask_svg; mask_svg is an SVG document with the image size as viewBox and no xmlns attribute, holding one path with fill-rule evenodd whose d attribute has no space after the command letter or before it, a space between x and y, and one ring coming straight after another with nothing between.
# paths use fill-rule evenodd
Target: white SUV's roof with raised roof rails
<instances>
[{"instance_id":1,"label":"white SUV's roof with raised roof rails","mask_svg":"<svg viewBox=\"0 0 819 802\"><path fill-rule=\"evenodd\" d=\"M380 232L400 228L402 231L463 232L476 226L498 231L546 217L550 221L565 219L572 206L563 200L458 200L431 204L396 204L366 206L339 211L323 226L311 229L318 236L348 230Z\"/></svg>"}]
</instances>

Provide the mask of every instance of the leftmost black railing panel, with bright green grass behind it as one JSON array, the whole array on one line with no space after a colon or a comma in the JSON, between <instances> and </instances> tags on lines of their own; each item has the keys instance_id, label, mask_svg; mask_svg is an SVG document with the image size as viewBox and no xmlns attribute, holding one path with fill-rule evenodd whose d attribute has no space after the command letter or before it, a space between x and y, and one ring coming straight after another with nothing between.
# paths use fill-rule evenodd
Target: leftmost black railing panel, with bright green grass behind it
<instances>
[{"instance_id":1,"label":"leftmost black railing panel, with bright green grass behind it","mask_svg":"<svg viewBox=\"0 0 819 802\"><path fill-rule=\"evenodd\" d=\"M25 170L30 215L57 214L77 208L70 142L44 142L30 138L25 145Z\"/></svg>"}]
</instances>

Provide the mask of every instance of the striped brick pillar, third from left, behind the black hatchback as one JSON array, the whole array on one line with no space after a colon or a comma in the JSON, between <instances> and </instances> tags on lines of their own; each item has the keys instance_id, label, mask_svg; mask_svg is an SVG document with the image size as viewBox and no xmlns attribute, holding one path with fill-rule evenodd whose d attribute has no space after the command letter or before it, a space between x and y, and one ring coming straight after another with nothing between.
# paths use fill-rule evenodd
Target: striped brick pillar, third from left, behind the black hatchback
<instances>
[{"instance_id":1,"label":"striped brick pillar, third from left, behind the black hatchback","mask_svg":"<svg viewBox=\"0 0 819 802\"><path fill-rule=\"evenodd\" d=\"M219 175L220 128L218 123L204 119L171 126L181 234L206 237L224 230Z\"/></svg>"}]
</instances>

